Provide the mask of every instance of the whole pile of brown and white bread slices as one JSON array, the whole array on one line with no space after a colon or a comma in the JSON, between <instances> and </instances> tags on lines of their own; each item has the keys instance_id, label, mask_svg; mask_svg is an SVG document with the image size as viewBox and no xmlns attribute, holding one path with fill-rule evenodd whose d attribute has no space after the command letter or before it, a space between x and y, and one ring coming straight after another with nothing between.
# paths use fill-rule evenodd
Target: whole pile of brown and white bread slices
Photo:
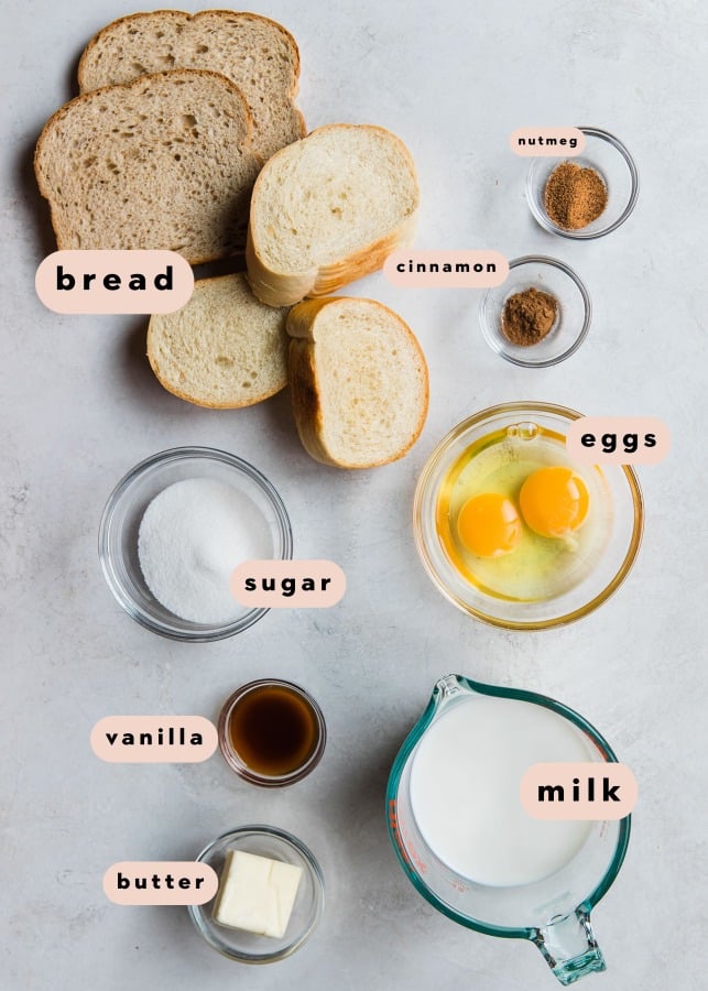
<instances>
[{"instance_id":1,"label":"whole pile of brown and white bread slices","mask_svg":"<svg viewBox=\"0 0 708 991\"><path fill-rule=\"evenodd\" d=\"M257 14L122 18L84 52L80 96L46 123L35 172L59 249L160 248L198 264L246 244L247 275L200 280L183 309L151 318L157 379L215 409L290 381L308 453L373 467L423 428L425 359L392 311L328 294L411 242L417 179L383 128L304 137L298 75L292 35Z\"/></svg>"}]
</instances>

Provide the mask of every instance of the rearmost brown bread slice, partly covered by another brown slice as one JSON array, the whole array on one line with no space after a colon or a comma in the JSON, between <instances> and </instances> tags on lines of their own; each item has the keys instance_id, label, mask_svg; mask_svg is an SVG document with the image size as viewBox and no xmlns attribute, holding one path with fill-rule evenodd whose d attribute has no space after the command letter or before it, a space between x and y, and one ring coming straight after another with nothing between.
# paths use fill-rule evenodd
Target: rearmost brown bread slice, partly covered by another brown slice
<instances>
[{"instance_id":1,"label":"rearmost brown bread slice, partly covered by another brown slice","mask_svg":"<svg viewBox=\"0 0 708 991\"><path fill-rule=\"evenodd\" d=\"M172 68L210 69L236 83L253 118L253 150L263 161L305 133L294 104L295 40L281 24L253 13L156 10L121 18L88 43L78 81L87 92Z\"/></svg>"}]
</instances>

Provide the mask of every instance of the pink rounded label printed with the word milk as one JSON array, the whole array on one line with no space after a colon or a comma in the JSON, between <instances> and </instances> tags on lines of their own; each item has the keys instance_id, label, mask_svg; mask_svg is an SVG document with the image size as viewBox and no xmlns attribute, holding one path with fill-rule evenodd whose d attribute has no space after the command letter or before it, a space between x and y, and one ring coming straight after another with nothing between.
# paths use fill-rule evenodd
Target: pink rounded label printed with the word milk
<instances>
[{"instance_id":1,"label":"pink rounded label printed with the word milk","mask_svg":"<svg viewBox=\"0 0 708 991\"><path fill-rule=\"evenodd\" d=\"M636 805L638 787L625 764L533 764L520 796L534 819L623 819Z\"/></svg>"}]
</instances>

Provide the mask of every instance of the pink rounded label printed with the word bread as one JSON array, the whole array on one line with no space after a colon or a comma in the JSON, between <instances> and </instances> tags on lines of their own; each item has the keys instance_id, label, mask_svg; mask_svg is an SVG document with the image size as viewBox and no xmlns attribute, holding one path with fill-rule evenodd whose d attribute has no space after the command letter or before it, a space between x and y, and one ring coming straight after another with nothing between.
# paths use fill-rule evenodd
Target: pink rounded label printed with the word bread
<instances>
[{"instance_id":1,"label":"pink rounded label printed with the word bread","mask_svg":"<svg viewBox=\"0 0 708 991\"><path fill-rule=\"evenodd\" d=\"M173 313L188 302L194 272L174 251L55 251L34 285L54 313Z\"/></svg>"}]
</instances>

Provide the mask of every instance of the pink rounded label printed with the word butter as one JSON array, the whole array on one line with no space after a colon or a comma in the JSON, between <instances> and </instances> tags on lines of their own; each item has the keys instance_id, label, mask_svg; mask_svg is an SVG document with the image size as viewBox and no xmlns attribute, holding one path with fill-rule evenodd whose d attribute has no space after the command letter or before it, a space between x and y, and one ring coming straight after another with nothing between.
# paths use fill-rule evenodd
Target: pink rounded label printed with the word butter
<instances>
[{"instance_id":1,"label":"pink rounded label printed with the word butter","mask_svg":"<svg viewBox=\"0 0 708 991\"><path fill-rule=\"evenodd\" d=\"M214 868L196 860L122 860L104 874L117 905L204 905L218 887Z\"/></svg>"}]
</instances>

